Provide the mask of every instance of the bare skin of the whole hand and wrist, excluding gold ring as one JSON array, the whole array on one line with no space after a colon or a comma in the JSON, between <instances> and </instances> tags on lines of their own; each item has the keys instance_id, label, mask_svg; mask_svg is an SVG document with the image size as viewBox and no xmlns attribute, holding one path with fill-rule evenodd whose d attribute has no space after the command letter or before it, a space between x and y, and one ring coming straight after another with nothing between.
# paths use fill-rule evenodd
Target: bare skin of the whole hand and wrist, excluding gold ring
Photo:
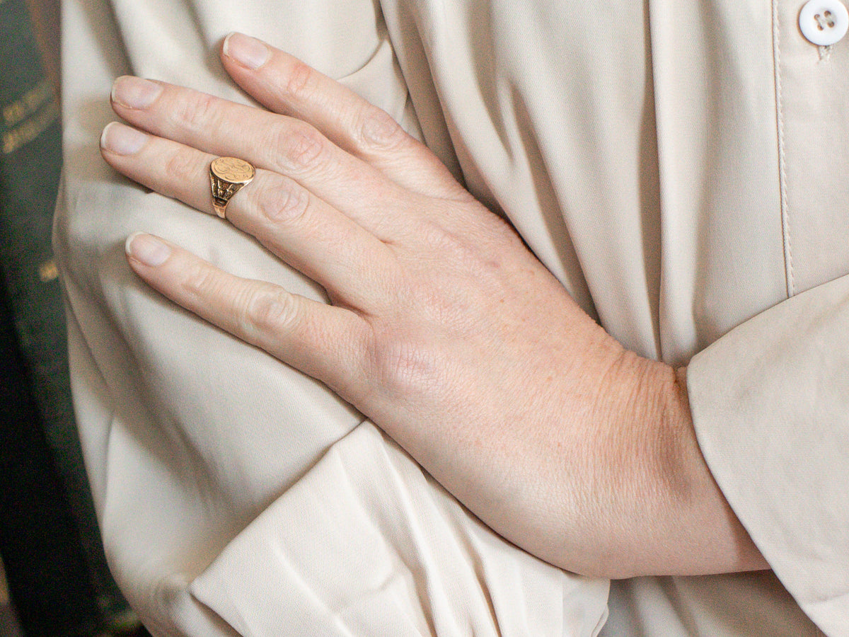
<instances>
[{"instance_id":1,"label":"bare skin of the whole hand and wrist, excluding gold ring","mask_svg":"<svg viewBox=\"0 0 849 637\"><path fill-rule=\"evenodd\" d=\"M385 112L245 36L222 61L267 110L122 77L132 128L104 129L104 159L207 213L212 159L250 161L228 222L331 304L145 234L127 241L139 277L323 381L543 560L612 578L767 567L700 454L683 370L621 347Z\"/></svg>"}]
</instances>

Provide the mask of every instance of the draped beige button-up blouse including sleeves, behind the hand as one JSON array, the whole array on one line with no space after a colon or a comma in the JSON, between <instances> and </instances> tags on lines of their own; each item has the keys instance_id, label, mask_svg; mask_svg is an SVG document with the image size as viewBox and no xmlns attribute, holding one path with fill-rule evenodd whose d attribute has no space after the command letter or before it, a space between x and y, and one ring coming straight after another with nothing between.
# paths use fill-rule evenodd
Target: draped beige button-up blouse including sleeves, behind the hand
<instances>
[{"instance_id":1,"label":"draped beige button-up blouse including sleeves, behind the hand","mask_svg":"<svg viewBox=\"0 0 849 637\"><path fill-rule=\"evenodd\" d=\"M76 409L107 554L152 631L849 634L849 37L810 42L804 4L65 0ZM550 567L325 387L134 277L123 242L145 230L323 297L99 157L115 76L245 101L216 56L233 30L388 110L610 334L689 364L701 448L774 574Z\"/></svg>"}]
</instances>

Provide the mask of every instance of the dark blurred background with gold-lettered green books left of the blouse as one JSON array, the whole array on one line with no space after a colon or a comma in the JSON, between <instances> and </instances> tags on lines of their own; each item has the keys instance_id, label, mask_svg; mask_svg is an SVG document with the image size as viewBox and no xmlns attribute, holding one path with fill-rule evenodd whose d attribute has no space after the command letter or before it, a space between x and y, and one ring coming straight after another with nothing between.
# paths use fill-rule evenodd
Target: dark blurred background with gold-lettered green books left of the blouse
<instances>
[{"instance_id":1,"label":"dark blurred background with gold-lettered green books left of the blouse","mask_svg":"<svg viewBox=\"0 0 849 637\"><path fill-rule=\"evenodd\" d=\"M59 0L0 0L0 637L146 635L110 576L53 262Z\"/></svg>"}]
</instances>

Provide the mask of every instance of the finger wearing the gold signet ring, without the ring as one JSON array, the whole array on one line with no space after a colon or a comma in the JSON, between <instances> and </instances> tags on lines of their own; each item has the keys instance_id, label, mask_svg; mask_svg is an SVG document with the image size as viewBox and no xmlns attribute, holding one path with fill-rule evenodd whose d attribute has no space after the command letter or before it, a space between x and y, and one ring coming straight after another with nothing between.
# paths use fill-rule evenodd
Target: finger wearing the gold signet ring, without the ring
<instances>
[{"instance_id":1,"label":"finger wearing the gold signet ring, without the ring","mask_svg":"<svg viewBox=\"0 0 849 637\"><path fill-rule=\"evenodd\" d=\"M212 210L214 155L118 122L104 128L101 147L110 166L134 181L198 210ZM368 312L386 298L391 249L293 179L257 170L229 202L227 218L323 285L335 303Z\"/></svg>"}]
</instances>

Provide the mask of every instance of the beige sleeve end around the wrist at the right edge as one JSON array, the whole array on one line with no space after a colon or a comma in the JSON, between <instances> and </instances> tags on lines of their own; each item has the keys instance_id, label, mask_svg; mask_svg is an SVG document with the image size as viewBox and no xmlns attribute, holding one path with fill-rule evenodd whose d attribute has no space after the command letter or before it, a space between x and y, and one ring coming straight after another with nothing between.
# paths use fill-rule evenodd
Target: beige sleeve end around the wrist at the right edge
<instances>
[{"instance_id":1,"label":"beige sleeve end around the wrist at the right edge","mask_svg":"<svg viewBox=\"0 0 849 637\"><path fill-rule=\"evenodd\" d=\"M739 325L689 364L703 454L770 566L849 633L849 277Z\"/></svg>"}]
</instances>

